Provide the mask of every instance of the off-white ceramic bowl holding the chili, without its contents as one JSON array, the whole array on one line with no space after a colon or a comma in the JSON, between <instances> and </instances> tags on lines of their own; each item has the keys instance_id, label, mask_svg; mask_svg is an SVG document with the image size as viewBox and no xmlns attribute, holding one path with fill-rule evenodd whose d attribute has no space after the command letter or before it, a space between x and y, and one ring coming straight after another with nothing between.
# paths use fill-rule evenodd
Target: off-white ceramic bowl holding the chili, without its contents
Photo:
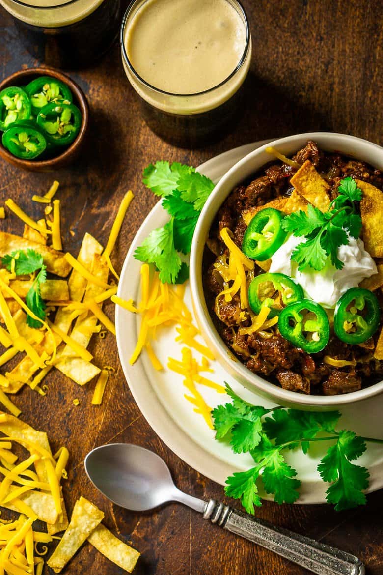
<instances>
[{"instance_id":1,"label":"off-white ceramic bowl holding the chili, without its contents","mask_svg":"<svg viewBox=\"0 0 383 575\"><path fill-rule=\"evenodd\" d=\"M341 405L361 401L383 392L383 381L371 385L357 392L339 394L336 396L315 396L303 393L291 392L282 389L247 369L235 355L229 350L220 338L212 323L207 309L202 282L202 258L203 250L208 237L208 232L218 209L229 196L235 186L254 175L264 164L270 162L270 154L265 148L272 145L287 156L292 156L307 143L314 140L319 148L328 152L340 152L343 155L355 159L364 160L383 170L383 148L369 141L354 136L327 132L314 132L287 136L265 144L258 150L251 152L240 160L231 170L225 174L215 186L196 225L191 248L190 259L190 287L196 319L199 327L214 351L216 358L223 364L225 369L239 383L264 397L277 401L281 405L300 409L335 409Z\"/></svg>"}]
</instances>

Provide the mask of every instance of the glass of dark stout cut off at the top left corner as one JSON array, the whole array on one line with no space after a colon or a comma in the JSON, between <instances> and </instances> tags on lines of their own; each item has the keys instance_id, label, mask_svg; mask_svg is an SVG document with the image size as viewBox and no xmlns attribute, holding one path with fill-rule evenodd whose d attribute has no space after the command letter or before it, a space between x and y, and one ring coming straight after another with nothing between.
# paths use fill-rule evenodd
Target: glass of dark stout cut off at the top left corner
<instances>
[{"instance_id":1,"label":"glass of dark stout cut off at the top left corner","mask_svg":"<svg viewBox=\"0 0 383 575\"><path fill-rule=\"evenodd\" d=\"M119 31L120 0L0 0L14 17L22 43L49 66L87 66L110 48Z\"/></svg>"}]
</instances>

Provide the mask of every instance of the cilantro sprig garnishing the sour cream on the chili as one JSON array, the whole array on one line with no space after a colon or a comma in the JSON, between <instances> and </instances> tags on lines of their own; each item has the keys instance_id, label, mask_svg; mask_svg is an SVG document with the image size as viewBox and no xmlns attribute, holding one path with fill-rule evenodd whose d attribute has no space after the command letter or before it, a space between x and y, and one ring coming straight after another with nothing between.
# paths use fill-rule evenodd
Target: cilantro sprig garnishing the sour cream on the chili
<instances>
[{"instance_id":1,"label":"cilantro sprig garnishing the sour cream on the chili","mask_svg":"<svg viewBox=\"0 0 383 575\"><path fill-rule=\"evenodd\" d=\"M299 264L300 271L306 267L320 271L326 266L328 257L336 269L342 269L338 248L349 243L349 236L357 239L361 233L362 218L355 206L355 202L361 199L362 190L353 178L347 177L339 184L338 196L327 212L309 204L307 214L299 210L285 216L282 222L285 231L295 237L305 237L291 255L291 259Z\"/></svg>"}]
</instances>

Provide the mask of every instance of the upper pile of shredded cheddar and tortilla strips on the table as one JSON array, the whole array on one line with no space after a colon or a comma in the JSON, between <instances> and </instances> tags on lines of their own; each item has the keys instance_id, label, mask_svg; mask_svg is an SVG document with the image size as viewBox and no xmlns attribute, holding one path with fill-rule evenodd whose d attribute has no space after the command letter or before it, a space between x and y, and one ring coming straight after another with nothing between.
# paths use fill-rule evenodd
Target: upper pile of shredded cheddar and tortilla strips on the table
<instances>
[{"instance_id":1,"label":"upper pile of shredded cheddar and tortilla strips on the table","mask_svg":"<svg viewBox=\"0 0 383 575\"><path fill-rule=\"evenodd\" d=\"M109 377L108 370L100 370L92 364L93 357L87 346L93 333L107 329L115 335L114 323L102 311L102 304L117 293L117 285L107 282L109 271L118 279L110 255L133 193L129 190L123 197L105 250L98 241L86 234L76 259L69 252L61 252L60 200L53 200L58 189L59 182L55 181L45 196L33 196L33 201L45 205L45 218L38 221L34 221L11 198L5 202L7 208L25 224L22 238L0 232L3 234L3 243L10 245L9 251L5 252L32 247L43 255L48 271L63 276L72 270L68 281L49 280L49 293L55 296L56 292L56 297L51 297L51 301L47 302L47 312L56 311L53 321L39 320L26 305L23 299L25 293L21 292L23 284L28 283L28 280L15 281L14 267L11 272L0 270L0 320L4 326L0 325L0 343L6 350L0 355L0 366L6 365L17 354L25 354L16 367L0 374L0 402L15 416L21 411L10 400L9 393L16 393L22 386L29 385L44 395L46 387L41 382L52 367L79 385L86 384L99 374L92 398L93 405L101 404ZM47 246L49 238L50 247ZM57 298L58 290L63 293L66 291L66 300ZM27 314L40 321L40 329L26 325Z\"/></svg>"}]
</instances>

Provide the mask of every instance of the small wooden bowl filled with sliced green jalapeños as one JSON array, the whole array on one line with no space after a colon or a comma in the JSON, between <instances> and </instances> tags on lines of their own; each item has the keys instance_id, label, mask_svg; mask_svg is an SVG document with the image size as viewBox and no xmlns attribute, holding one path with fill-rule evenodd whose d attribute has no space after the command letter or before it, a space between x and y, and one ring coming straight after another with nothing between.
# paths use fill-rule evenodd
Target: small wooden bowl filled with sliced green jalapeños
<instances>
[{"instance_id":1,"label":"small wooden bowl filled with sliced green jalape\u00f1os","mask_svg":"<svg viewBox=\"0 0 383 575\"><path fill-rule=\"evenodd\" d=\"M45 94L42 90L42 86L46 85L49 79L56 81L55 86L59 86L59 95L65 102L60 103L60 121L63 121L63 117L65 120L68 116L76 127L75 131L65 131L60 137L55 131L55 125L58 121L57 106L49 101L49 94ZM3 141L0 140L0 156L23 170L36 172L55 171L72 163L78 157L83 146L89 121L88 102L80 86L69 76L55 70L55 68L38 67L19 70L7 76L0 83L0 93L7 95L9 91L12 91L9 94L10 97L14 96L13 92L16 93L17 91L17 98L21 104L19 105L20 110L14 112L18 114L15 125L13 126L11 123L13 118L7 114L8 120L5 122L9 121L9 125L0 127L3 131L6 129L6 132L3 133ZM25 102L24 94L29 97L25 98ZM33 123L29 120L32 112L37 118L36 122ZM17 155L23 155L20 154L20 149L17 146L20 128L22 128L22 134L28 135L28 138L32 140L33 148L36 150L36 159L33 159L33 154L31 155L30 152L28 159L17 157ZM42 131L44 131L44 138L41 137ZM53 151L51 155L44 157L45 154L42 152L48 145L52 147ZM40 159L40 154L42 159Z\"/></svg>"}]
</instances>

